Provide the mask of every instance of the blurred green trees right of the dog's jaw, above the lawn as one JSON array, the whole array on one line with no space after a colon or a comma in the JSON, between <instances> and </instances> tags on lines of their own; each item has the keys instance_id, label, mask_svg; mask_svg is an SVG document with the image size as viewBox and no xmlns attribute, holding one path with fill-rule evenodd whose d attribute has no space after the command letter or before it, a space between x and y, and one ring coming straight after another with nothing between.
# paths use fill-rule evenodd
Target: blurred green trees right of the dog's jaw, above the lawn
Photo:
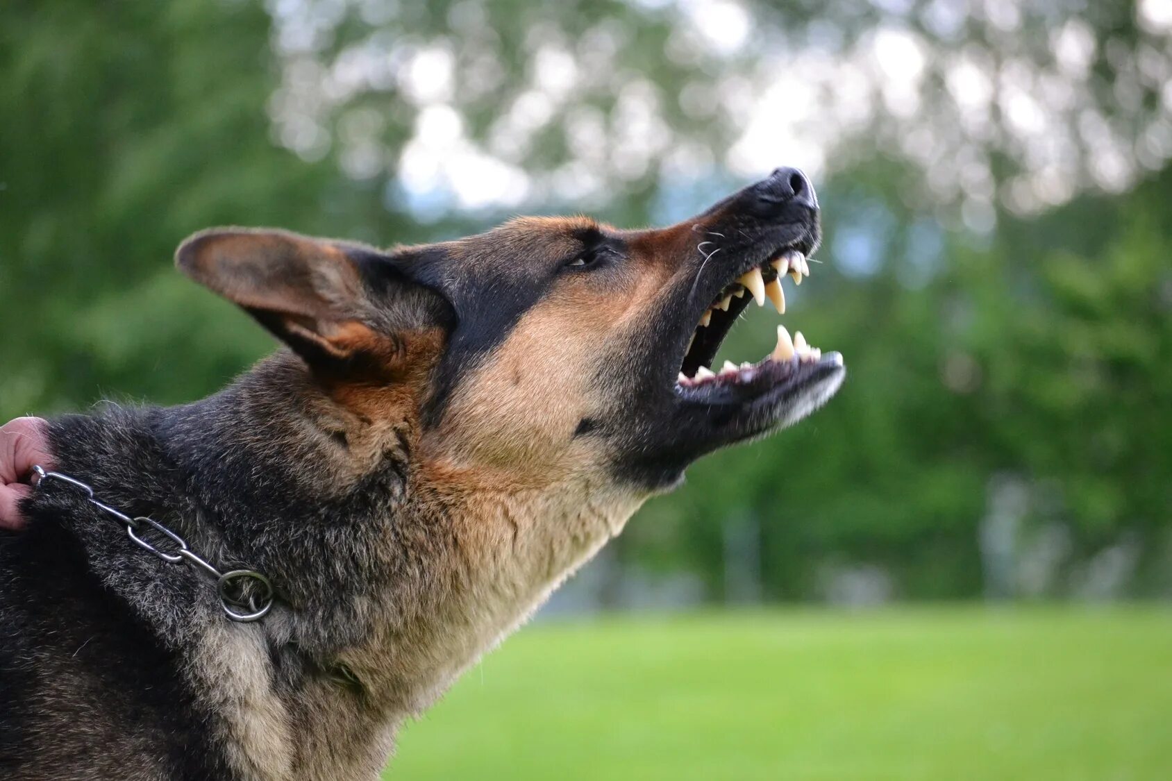
<instances>
[{"instance_id":1,"label":"blurred green trees right of the dog's jaw, above the lawn","mask_svg":"<svg viewBox=\"0 0 1172 781\"><path fill-rule=\"evenodd\" d=\"M1137 577L1123 593L1167 593L1170 192L1165 171L1123 197L1006 218L979 246L953 238L947 265L918 285L818 267L795 317L846 355L843 390L792 432L693 468L690 489L654 504L633 539L657 548L656 523L672 524L687 541L675 555L718 593L715 519L748 512L764 527L774 597L820 596L827 569L875 564L904 595L972 596L986 488L1009 473L1031 487L1031 522L1070 542L1043 593L1079 591L1088 562L1126 543ZM897 267L899 232L881 250ZM766 331L743 326L724 352L759 354L749 337Z\"/></svg>"}]
</instances>

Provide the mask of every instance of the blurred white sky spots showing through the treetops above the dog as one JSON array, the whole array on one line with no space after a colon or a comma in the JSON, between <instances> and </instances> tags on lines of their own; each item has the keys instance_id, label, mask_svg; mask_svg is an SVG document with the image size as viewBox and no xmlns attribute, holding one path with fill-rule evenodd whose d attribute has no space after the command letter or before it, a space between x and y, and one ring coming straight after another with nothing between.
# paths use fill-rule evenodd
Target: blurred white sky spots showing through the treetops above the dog
<instances>
[{"instance_id":1,"label":"blurred white sky spots showing through the treetops above the dog","mask_svg":"<svg viewBox=\"0 0 1172 781\"><path fill-rule=\"evenodd\" d=\"M427 216L551 198L590 208L608 183L659 163L681 181L717 169L748 178L779 164L817 179L849 162L859 134L878 134L880 148L924 171L926 196L960 203L974 230L992 225L995 199L1034 212L1084 188L1125 189L1172 157L1172 0L1138 1L1146 35L1138 46L1095 40L1077 0L874 0L880 21L851 41L829 23L788 35L740 0L632 5L669 15L663 56L703 57L710 77L667 95L622 68L618 22L573 38L537 22L524 47L524 83L473 141L462 101L493 94L505 79L478 0L454 6L450 29L430 38L402 34L394 0L271 0L284 72L271 103L278 140L307 158L336 144L349 176L389 176ZM369 34L323 54L355 11ZM974 20L989 46L959 42ZM1112 64L1113 83L1095 80L1098 55ZM614 96L611 116L578 101L600 90ZM1145 90L1159 96L1154 109ZM697 124L728 123L732 142L714 150L669 127L668 101ZM388 148L386 113L404 102L413 137ZM564 128L570 159L532 170L533 141L551 123ZM994 152L1018 172L995 182Z\"/></svg>"}]
</instances>

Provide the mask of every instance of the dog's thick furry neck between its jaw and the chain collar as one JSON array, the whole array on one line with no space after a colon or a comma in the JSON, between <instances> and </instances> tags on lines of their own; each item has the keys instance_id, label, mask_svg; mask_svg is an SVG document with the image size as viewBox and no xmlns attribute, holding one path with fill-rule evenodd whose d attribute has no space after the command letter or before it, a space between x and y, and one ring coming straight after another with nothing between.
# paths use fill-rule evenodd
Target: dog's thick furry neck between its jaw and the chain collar
<instances>
[{"instance_id":1,"label":"dog's thick furry neck between its jaw and the chain collar","mask_svg":"<svg viewBox=\"0 0 1172 781\"><path fill-rule=\"evenodd\" d=\"M195 538L266 572L282 598L260 625L214 624L192 665L211 687L230 675L250 693L217 709L260 777L374 777L397 725L642 501L590 473L517 480L454 463L410 414L356 415L291 355L161 420L207 521Z\"/></svg>"}]
</instances>

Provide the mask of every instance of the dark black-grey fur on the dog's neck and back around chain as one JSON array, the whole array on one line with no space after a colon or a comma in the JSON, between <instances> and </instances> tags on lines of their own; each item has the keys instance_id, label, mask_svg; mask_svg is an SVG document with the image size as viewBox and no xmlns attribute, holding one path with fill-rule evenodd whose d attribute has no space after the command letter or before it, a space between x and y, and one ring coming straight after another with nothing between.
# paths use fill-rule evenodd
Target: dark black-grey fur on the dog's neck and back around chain
<instances>
[{"instance_id":1,"label":"dark black-grey fur on the dog's neck and back around chain","mask_svg":"<svg viewBox=\"0 0 1172 781\"><path fill-rule=\"evenodd\" d=\"M239 562L272 578L277 610L295 612L230 631L281 627L264 659L273 695L291 698L369 636L372 591L408 578L430 593L440 576L418 571L421 536L447 535L395 511L406 495L395 459L339 493L319 459L288 457L307 446L285 373L302 371L271 361L193 405L113 407L49 426L59 469L103 502L154 517L222 568ZM320 447L335 446L323 436ZM222 693L193 688L182 672L206 627L227 620L213 583L138 549L62 483L34 491L23 511L27 531L0 532L0 777L117 779L157 762L158 777L236 779L222 765L223 715L204 705ZM393 558L375 558L388 537L398 541ZM402 614L428 610L416 598L404 591Z\"/></svg>"}]
</instances>

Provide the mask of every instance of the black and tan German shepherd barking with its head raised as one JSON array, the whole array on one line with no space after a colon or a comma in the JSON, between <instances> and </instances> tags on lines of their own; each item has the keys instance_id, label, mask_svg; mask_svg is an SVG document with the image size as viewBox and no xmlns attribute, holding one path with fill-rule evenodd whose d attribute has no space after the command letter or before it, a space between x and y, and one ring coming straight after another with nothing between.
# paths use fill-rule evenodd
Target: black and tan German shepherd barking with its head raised
<instances>
[{"instance_id":1,"label":"black and tan German shepherd barking with its head raised","mask_svg":"<svg viewBox=\"0 0 1172 781\"><path fill-rule=\"evenodd\" d=\"M841 356L784 330L709 368L818 240L793 169L661 230L188 239L179 269L285 348L202 401L66 415L49 441L98 501L266 575L275 602L229 620L197 568L42 484L0 538L0 777L376 779L403 720L645 500L834 394Z\"/></svg>"}]
</instances>

